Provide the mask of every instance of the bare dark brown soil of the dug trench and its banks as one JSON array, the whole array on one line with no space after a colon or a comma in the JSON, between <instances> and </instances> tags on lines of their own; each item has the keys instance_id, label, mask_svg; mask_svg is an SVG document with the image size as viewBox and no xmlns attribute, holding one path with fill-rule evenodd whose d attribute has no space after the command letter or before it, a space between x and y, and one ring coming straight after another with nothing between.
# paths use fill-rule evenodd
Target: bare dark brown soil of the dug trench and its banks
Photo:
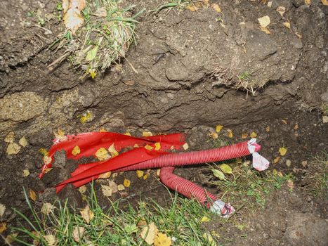
<instances>
[{"instance_id":1,"label":"bare dark brown soil of the dug trench and its banks","mask_svg":"<svg viewBox=\"0 0 328 246\"><path fill-rule=\"evenodd\" d=\"M133 1L136 8L155 8L159 1ZM216 2L216 1L211 1ZM241 141L244 132L258 134L261 155L273 162L278 150L288 148L270 169L292 171L301 179L302 161L320 151L328 151L328 125L322 121L322 104L328 103L327 14L328 6L301 0L273 1L272 7L259 1L218 1L222 13L211 8L199 11L161 11L140 16L138 44L131 47L117 66L103 77L79 79L69 63L53 72L47 65L60 56L47 47L64 30L56 15L54 1L10 1L0 9L0 203L8 208L2 220L15 224L11 208L28 214L22 186L46 190L65 177L37 178L41 167L39 148L48 148L53 131L67 134L107 131L140 134L183 131L189 134L192 149L211 148L209 127L222 124L232 129L231 143ZM284 6L284 17L276 10ZM28 12L34 11L29 17ZM39 27L38 18L46 23ZM258 27L257 18L269 15L271 34ZM282 25L289 21L291 29ZM243 23L241 23L243 22ZM221 25L221 24L222 25ZM51 32L48 32L50 30ZM296 36L301 34L301 38ZM232 89L234 82L222 75L228 69L236 75L251 73L261 86L253 95ZM91 122L81 124L78 115L89 110ZM285 122L282 122L282 119ZM295 125L298 124L298 129ZM270 131L265 131L270 127ZM7 155L4 137L14 131L16 141L25 136L29 145L17 155ZM287 167L287 160L291 165ZM74 168L74 164L68 164ZM178 169L176 173L202 183L197 170ZM22 177L22 170L30 175ZM55 175L52 173L51 175ZM133 196L155 198L159 202L169 193L155 173L139 181L124 173L133 185ZM61 179L62 180L62 179ZM96 183L96 190L99 191ZM248 231L228 226L225 245L327 245L327 200L315 200L295 183L294 193L282 189L268 201L265 209L249 221ZM220 195L219 191L214 192ZM107 200L99 193L100 202ZM126 194L123 194L126 195ZM53 200L52 192L39 195L37 205ZM62 197L75 197L74 189ZM327 195L326 195L327 198ZM245 222L247 223L247 222ZM214 224L213 226L220 226ZM226 226L226 224L225 224ZM247 234L247 237L241 236ZM231 241L232 240L232 241Z\"/></svg>"}]
</instances>

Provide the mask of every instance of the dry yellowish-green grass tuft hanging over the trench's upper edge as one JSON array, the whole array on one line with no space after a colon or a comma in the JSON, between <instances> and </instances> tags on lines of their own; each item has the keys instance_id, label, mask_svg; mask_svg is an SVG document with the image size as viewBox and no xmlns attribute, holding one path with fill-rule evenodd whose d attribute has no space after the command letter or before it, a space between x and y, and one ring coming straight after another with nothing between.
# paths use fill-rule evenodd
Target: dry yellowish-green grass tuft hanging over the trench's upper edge
<instances>
[{"instance_id":1,"label":"dry yellowish-green grass tuft hanging over the trench's upper edge","mask_svg":"<svg viewBox=\"0 0 328 246\"><path fill-rule=\"evenodd\" d=\"M132 15L133 8L123 8L121 1L88 1L82 11L84 25L76 35L67 30L48 49L55 48L57 51L63 48L68 54L64 58L82 70L84 77L94 78L119 59L125 58L126 51L136 40L136 17L143 11ZM59 63L61 59L58 59Z\"/></svg>"}]
</instances>

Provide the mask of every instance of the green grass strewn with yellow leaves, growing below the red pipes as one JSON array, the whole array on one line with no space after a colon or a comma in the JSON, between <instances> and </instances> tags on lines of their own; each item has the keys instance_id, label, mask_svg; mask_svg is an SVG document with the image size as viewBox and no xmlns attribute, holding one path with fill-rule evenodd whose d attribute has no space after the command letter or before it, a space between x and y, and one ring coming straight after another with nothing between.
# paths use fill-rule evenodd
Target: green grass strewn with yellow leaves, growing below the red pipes
<instances>
[{"instance_id":1,"label":"green grass strewn with yellow leaves, growing below the red pipes","mask_svg":"<svg viewBox=\"0 0 328 246\"><path fill-rule=\"evenodd\" d=\"M13 233L19 233L15 237L16 242L22 245L31 245L33 242L34 245L47 245L47 235L53 235L57 245L146 245L140 238L140 231L144 227L138 224L141 220L147 224L154 222L159 232L174 238L174 245L208 245L202 236L205 229L201 226L201 219L203 216L211 218L213 215L195 200L176 195L167 201L168 207L162 207L154 200L138 202L134 206L123 199L114 202L109 200L109 209L104 211L98 205L92 189L87 202L94 217L87 224L77 209L72 212L67 207L67 202L57 201L53 204L56 209L50 214L41 214L32 207L26 190L24 193L33 219L30 220L25 214L15 210L27 222L28 228L12 228ZM73 238L76 226L85 230L84 235L80 235L79 242Z\"/></svg>"}]
</instances>

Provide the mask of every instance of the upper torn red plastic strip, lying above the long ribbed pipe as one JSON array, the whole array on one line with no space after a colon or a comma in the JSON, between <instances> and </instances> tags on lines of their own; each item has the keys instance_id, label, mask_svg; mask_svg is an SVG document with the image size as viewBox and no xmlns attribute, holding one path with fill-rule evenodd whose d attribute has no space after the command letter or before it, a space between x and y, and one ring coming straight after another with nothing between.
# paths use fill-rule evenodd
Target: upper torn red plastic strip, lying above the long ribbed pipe
<instances>
[{"instance_id":1,"label":"upper torn red plastic strip, lying above the long ribbed pipe","mask_svg":"<svg viewBox=\"0 0 328 246\"><path fill-rule=\"evenodd\" d=\"M53 155L59 150L65 150L68 159L79 160L81 157L95 156L96 151L99 148L109 148L114 144L114 148L117 151L122 148L133 148L134 145L146 145L151 143L163 143L163 147L173 146L178 150L183 143L185 143L184 134L167 134L147 137L133 137L124 134L117 134L113 132L88 132L77 135L67 135L66 139L59 141L54 140L54 145L49 150L48 157L51 158L51 162L44 164L41 168L41 174L39 178L44 176L46 169L51 168L53 163ZM168 146L169 145L169 146ZM72 150L75 146L79 146L81 153L79 155L72 155Z\"/></svg>"}]
</instances>

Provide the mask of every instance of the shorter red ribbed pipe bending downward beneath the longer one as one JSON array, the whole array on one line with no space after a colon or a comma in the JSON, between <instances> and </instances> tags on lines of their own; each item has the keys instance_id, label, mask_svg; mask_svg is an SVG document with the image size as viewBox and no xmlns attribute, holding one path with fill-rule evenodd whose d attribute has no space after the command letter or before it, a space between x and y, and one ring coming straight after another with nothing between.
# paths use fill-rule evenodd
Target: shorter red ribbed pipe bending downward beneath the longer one
<instances>
[{"instance_id":1,"label":"shorter red ribbed pipe bending downward beneath the longer one","mask_svg":"<svg viewBox=\"0 0 328 246\"><path fill-rule=\"evenodd\" d=\"M173 174L175 167L162 167L160 179L165 186L171 190L176 190L178 193L187 198L196 198L202 205L210 208L212 202L218 200L215 195L206 192L204 188L197 186L197 184L183 179L176 174Z\"/></svg>"}]
</instances>

